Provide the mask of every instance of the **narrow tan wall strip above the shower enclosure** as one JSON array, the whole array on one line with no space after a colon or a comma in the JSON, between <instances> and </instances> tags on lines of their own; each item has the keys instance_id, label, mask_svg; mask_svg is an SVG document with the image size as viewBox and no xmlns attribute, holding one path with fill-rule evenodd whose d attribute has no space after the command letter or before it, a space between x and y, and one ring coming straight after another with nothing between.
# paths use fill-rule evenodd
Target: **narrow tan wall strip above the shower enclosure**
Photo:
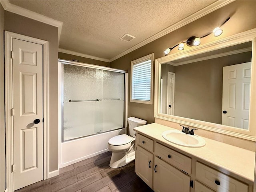
<instances>
[{"instance_id":1,"label":"narrow tan wall strip above the shower enclosure","mask_svg":"<svg viewBox=\"0 0 256 192\"><path fill-rule=\"evenodd\" d=\"M65 60L76 59L76 60L78 60L79 62L82 62L82 63L88 63L88 64L93 64L93 65L100 65L100 66L110 67L109 62L99 61L99 60L85 58L85 57L80 57L80 56L76 56L76 55L72 55L72 54L66 54L66 53L62 53L62 52L58 52L58 57L60 59L65 59Z\"/></svg>"}]
</instances>

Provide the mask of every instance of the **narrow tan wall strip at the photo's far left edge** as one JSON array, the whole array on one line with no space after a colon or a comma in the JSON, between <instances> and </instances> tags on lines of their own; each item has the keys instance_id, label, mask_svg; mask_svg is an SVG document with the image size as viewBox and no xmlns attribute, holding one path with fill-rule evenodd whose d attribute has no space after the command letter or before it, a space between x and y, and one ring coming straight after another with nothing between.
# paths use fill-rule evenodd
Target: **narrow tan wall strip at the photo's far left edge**
<instances>
[{"instance_id":1,"label":"narrow tan wall strip at the photo's far left edge","mask_svg":"<svg viewBox=\"0 0 256 192\"><path fill-rule=\"evenodd\" d=\"M0 192L6 185L5 126L4 126L4 8L0 5Z\"/></svg>"}]
</instances>

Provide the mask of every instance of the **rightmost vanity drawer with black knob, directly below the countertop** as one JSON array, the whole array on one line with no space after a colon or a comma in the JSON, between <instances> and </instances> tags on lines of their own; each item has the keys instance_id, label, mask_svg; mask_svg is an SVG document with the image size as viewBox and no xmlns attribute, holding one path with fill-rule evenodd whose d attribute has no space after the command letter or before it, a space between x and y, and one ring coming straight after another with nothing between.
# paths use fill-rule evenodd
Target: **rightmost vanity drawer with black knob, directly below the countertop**
<instances>
[{"instance_id":1,"label":"rightmost vanity drawer with black knob, directly below the countertop","mask_svg":"<svg viewBox=\"0 0 256 192\"><path fill-rule=\"evenodd\" d=\"M196 179L215 191L248 191L248 185L200 162L196 162Z\"/></svg>"}]
</instances>

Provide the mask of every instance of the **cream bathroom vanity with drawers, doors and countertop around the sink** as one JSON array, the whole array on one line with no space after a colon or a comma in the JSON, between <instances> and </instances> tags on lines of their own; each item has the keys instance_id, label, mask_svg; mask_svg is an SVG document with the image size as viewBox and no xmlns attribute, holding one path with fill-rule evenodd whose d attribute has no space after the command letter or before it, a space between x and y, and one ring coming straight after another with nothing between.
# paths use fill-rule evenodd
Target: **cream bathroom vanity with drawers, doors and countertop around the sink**
<instances>
[{"instance_id":1,"label":"cream bathroom vanity with drawers, doors and countertop around the sink","mask_svg":"<svg viewBox=\"0 0 256 192\"><path fill-rule=\"evenodd\" d=\"M252 192L254 152L207 138L206 146L201 148L176 146L162 138L162 132L168 129L172 128L156 123L134 128L135 172L150 188L156 192ZM216 153L214 144L221 145L220 150L226 150L227 157L217 157L220 154ZM208 151L209 148L212 151ZM249 164L241 166L247 167L245 172L239 172L240 166L236 165L240 160L233 160L230 162L232 165L227 167L220 166L223 162L218 160L228 158L226 161L229 161L236 158L230 157L228 150L248 155L241 158L252 158ZM205 155L202 155L204 152Z\"/></svg>"}]
</instances>

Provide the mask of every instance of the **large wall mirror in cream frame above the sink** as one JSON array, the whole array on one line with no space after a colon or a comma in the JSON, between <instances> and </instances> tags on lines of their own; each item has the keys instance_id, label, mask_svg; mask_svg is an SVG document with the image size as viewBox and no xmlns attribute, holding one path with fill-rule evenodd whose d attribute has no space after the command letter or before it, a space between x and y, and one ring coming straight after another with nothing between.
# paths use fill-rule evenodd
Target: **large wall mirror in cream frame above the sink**
<instances>
[{"instance_id":1,"label":"large wall mirror in cream frame above the sink","mask_svg":"<svg viewBox=\"0 0 256 192\"><path fill-rule=\"evenodd\" d=\"M155 117L255 140L255 36L156 59Z\"/></svg>"}]
</instances>

